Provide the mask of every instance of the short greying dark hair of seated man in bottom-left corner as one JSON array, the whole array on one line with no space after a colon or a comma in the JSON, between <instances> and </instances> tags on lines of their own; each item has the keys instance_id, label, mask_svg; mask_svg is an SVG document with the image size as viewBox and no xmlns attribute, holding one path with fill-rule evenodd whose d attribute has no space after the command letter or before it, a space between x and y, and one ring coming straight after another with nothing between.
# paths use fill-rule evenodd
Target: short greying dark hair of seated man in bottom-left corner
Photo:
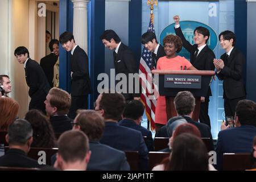
<instances>
[{"instance_id":1,"label":"short greying dark hair of seated man in bottom-left corner","mask_svg":"<svg viewBox=\"0 0 256 182\"><path fill-rule=\"evenodd\" d=\"M9 144L24 145L33 136L31 124L26 119L16 119L8 128Z\"/></svg>"}]
</instances>

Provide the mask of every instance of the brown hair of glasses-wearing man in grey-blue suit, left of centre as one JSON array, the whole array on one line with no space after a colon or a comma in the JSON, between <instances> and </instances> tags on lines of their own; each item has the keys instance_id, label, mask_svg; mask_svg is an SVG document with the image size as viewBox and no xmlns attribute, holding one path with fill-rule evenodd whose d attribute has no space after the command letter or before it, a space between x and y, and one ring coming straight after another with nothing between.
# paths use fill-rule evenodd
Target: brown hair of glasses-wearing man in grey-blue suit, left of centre
<instances>
[{"instance_id":1,"label":"brown hair of glasses-wearing man in grey-blue suit, left of centre","mask_svg":"<svg viewBox=\"0 0 256 182\"><path fill-rule=\"evenodd\" d=\"M101 139L105 129L104 118L94 110L79 110L76 123L80 130L84 132L90 141Z\"/></svg>"}]
</instances>

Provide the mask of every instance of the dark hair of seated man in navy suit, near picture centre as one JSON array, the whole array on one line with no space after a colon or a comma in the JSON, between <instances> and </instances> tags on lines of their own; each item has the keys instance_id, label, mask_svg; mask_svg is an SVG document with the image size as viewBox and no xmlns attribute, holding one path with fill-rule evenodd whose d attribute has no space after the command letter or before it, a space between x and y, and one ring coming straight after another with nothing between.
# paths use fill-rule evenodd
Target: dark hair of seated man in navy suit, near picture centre
<instances>
[{"instance_id":1,"label":"dark hair of seated man in navy suit, near picture centre","mask_svg":"<svg viewBox=\"0 0 256 182\"><path fill-rule=\"evenodd\" d=\"M105 119L119 121L125 109L125 97L120 93L102 93L99 105L104 110Z\"/></svg>"}]
</instances>

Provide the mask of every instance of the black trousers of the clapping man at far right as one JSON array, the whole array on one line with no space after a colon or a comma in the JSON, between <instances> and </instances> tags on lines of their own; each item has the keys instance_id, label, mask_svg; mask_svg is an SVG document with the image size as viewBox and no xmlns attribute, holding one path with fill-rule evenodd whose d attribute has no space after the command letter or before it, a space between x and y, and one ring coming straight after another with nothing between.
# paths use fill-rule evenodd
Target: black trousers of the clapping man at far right
<instances>
[{"instance_id":1,"label":"black trousers of the clapping man at far right","mask_svg":"<svg viewBox=\"0 0 256 182\"><path fill-rule=\"evenodd\" d=\"M234 118L237 103L244 99L245 97L239 97L239 98L233 98L233 99L224 98L225 117L233 116Z\"/></svg>"}]
</instances>

